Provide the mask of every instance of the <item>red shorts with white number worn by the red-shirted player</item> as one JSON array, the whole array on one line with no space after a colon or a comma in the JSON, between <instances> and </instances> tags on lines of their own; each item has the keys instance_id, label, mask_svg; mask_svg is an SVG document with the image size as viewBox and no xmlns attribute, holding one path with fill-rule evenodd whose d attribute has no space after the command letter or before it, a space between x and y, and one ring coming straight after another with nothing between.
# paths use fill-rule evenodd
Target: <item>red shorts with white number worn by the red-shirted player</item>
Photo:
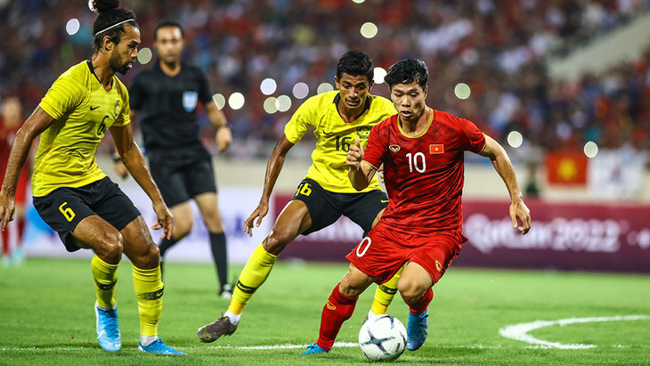
<instances>
[{"instance_id":1,"label":"red shorts with white number worn by the red-shirted player","mask_svg":"<svg viewBox=\"0 0 650 366\"><path fill-rule=\"evenodd\" d=\"M464 241L457 230L418 236L394 232L378 224L346 258L361 272L376 277L377 283L393 278L406 262L421 265L435 283L459 255Z\"/></svg>"}]
</instances>

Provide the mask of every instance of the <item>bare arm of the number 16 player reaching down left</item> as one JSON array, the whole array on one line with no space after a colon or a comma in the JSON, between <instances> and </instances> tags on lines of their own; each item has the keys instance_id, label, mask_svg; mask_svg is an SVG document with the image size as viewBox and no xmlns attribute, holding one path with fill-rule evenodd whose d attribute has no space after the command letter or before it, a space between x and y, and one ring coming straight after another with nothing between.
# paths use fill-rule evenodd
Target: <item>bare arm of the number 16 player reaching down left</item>
<instances>
[{"instance_id":1,"label":"bare arm of the number 16 player reaching down left","mask_svg":"<svg viewBox=\"0 0 650 366\"><path fill-rule=\"evenodd\" d=\"M262 224L262 219L269 213L269 199L278 180L282 166L284 166L284 159L287 157L288 150L294 146L293 143L287 140L287 136L283 135L280 141L275 145L271 152L269 162L266 164L266 174L264 175L264 190L262 191L262 198L259 200L255 211L244 222L244 232L248 232L249 236L253 236L253 222L255 219L255 226L259 227Z\"/></svg>"}]
</instances>

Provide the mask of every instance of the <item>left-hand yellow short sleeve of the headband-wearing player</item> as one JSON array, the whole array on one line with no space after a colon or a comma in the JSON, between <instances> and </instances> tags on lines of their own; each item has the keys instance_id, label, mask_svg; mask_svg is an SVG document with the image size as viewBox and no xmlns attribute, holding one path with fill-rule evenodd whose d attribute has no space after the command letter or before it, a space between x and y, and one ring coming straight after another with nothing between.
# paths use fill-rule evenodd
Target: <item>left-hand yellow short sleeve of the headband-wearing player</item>
<instances>
[{"instance_id":1,"label":"left-hand yellow short sleeve of the headband-wearing player","mask_svg":"<svg viewBox=\"0 0 650 366\"><path fill-rule=\"evenodd\" d=\"M84 102L87 88L85 77L77 69L69 69L57 78L38 104L54 119L63 117Z\"/></svg>"}]
</instances>

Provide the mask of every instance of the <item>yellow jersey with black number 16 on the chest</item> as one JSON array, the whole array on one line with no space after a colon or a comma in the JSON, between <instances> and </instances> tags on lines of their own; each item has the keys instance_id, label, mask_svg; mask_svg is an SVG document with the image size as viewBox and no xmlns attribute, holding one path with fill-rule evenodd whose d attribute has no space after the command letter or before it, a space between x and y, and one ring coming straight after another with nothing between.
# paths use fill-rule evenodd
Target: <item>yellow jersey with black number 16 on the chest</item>
<instances>
[{"instance_id":1,"label":"yellow jersey with black number 16 on the chest","mask_svg":"<svg viewBox=\"0 0 650 366\"><path fill-rule=\"evenodd\" d=\"M347 176L347 151L355 139L363 149L368 143L372 126L397 113L393 102L386 98L368 94L365 110L351 123L345 123L338 113L338 91L314 95L306 100L284 127L287 140L296 144L313 126L316 149L312 153L312 167L305 178L311 178L327 191L336 193L357 193ZM377 176L363 191L378 190Z\"/></svg>"}]
</instances>

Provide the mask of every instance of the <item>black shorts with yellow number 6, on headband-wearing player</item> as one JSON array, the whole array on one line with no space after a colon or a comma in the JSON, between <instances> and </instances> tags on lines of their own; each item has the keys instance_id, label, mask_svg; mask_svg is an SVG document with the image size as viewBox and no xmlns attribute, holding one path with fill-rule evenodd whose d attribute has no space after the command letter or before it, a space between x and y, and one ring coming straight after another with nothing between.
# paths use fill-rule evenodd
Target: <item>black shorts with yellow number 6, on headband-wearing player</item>
<instances>
[{"instance_id":1,"label":"black shorts with yellow number 6, on headband-wearing player","mask_svg":"<svg viewBox=\"0 0 650 366\"><path fill-rule=\"evenodd\" d=\"M85 217L100 216L119 231L140 216L131 199L108 176L83 187L61 187L46 196L34 197L34 207L59 233L69 252L79 250L70 233Z\"/></svg>"}]
</instances>

